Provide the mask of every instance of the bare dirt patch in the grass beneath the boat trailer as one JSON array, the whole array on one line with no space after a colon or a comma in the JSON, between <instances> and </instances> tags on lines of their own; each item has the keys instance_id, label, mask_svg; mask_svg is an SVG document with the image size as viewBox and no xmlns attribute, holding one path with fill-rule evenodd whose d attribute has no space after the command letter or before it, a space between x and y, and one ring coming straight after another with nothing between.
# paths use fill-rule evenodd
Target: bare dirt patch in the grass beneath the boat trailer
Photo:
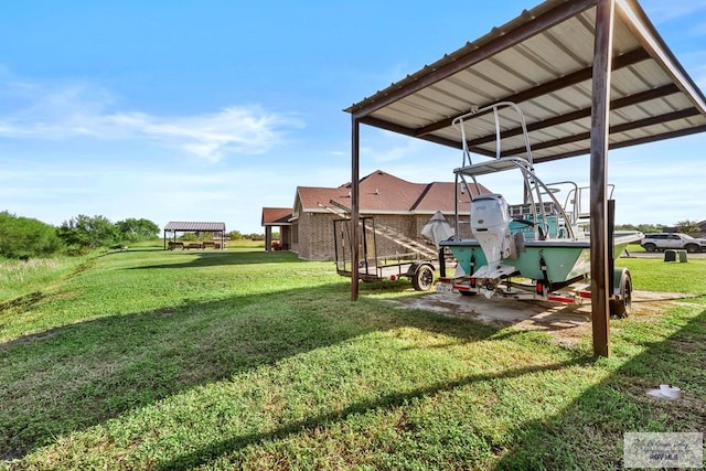
<instances>
[{"instance_id":1,"label":"bare dirt patch in the grass beneath the boat trailer","mask_svg":"<svg viewBox=\"0 0 706 471\"><path fill-rule=\"evenodd\" d=\"M650 319L663 313L684 293L633 291L631 317ZM582 304L485 299L483 296L429 293L392 301L402 309L421 309L445 315L473 319L489 325L546 331L561 344L571 345L591 335L591 301Z\"/></svg>"}]
</instances>

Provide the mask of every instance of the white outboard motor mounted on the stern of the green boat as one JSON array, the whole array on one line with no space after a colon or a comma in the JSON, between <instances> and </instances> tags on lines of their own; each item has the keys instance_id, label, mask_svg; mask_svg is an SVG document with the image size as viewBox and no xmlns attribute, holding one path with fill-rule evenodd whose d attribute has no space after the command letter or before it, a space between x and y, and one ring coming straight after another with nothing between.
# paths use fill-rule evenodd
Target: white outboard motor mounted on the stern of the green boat
<instances>
[{"instance_id":1,"label":"white outboard motor mounted on the stern of the green boat","mask_svg":"<svg viewBox=\"0 0 706 471\"><path fill-rule=\"evenodd\" d=\"M510 221L507 203L502 194L481 194L471 202L471 231L488 260L486 266L473 274L475 278L499 279L516 270L502 264L515 253Z\"/></svg>"}]
</instances>

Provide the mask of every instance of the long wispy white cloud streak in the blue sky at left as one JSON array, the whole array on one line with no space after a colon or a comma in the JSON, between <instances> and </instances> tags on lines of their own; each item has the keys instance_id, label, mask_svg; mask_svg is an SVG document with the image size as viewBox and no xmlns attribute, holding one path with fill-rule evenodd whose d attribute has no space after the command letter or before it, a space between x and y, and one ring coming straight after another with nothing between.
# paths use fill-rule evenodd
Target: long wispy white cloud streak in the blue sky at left
<instances>
[{"instance_id":1,"label":"long wispy white cloud streak in the blue sky at left","mask_svg":"<svg viewBox=\"0 0 706 471\"><path fill-rule=\"evenodd\" d=\"M0 115L0 137L148 139L213 162L235 153L267 152L284 143L289 129L302 126L291 116L259 106L171 117L114 110L115 96L86 85L49 88L13 82L0 85L0 97L9 104Z\"/></svg>"}]
</instances>

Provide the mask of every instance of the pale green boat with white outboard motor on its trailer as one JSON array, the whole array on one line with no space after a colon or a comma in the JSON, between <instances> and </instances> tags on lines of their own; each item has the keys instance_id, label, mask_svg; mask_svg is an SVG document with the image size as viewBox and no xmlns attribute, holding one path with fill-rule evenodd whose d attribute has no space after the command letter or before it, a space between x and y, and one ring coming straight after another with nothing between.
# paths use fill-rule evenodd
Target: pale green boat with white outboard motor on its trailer
<instances>
[{"instance_id":1,"label":"pale green boat with white outboard motor on its trailer","mask_svg":"<svg viewBox=\"0 0 706 471\"><path fill-rule=\"evenodd\" d=\"M473 162L469 146L473 120L488 119L489 114L495 125L495 157ZM456 118L453 126L461 132L463 142L462 164L453 171L457 185L469 194L475 185L478 195L468 210L461 208L457 199L454 236L439 242L439 246L456 258L456 272L447 277L446 266L441 267L437 292L566 303L580 303L590 298L589 189L570 181L545 184L537 176L524 115L514 103L477 108ZM502 156L501 135L509 129L521 130L523 154ZM522 201L509 204L502 194L480 193L479 176L511 171L520 174ZM610 186L610 196L612 189ZM469 228L462 227L463 217ZM612 217L609 216L609 243L613 246L609 270L613 287L610 312L624 317L631 309L632 279L627 268L616 268L612 260L628 244L641 240L643 234L614 232ZM472 236L463 238L461 234Z\"/></svg>"}]
</instances>

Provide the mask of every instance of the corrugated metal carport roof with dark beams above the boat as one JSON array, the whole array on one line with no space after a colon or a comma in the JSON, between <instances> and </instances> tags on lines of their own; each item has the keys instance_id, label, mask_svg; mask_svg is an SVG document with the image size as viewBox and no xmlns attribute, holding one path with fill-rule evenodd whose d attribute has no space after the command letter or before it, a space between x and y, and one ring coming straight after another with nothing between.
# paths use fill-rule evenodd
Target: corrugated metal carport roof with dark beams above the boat
<instances>
[{"instance_id":1,"label":"corrugated metal carport roof with dark beams above the boat","mask_svg":"<svg viewBox=\"0 0 706 471\"><path fill-rule=\"evenodd\" d=\"M346 111L371 126L461 147L454 117L498 101L525 114L535 162L590 152L597 0L548 0ZM634 0L616 0L609 147L706 130L706 99ZM495 156L492 116L472 151ZM524 156L518 127L501 156Z\"/></svg>"}]
</instances>

